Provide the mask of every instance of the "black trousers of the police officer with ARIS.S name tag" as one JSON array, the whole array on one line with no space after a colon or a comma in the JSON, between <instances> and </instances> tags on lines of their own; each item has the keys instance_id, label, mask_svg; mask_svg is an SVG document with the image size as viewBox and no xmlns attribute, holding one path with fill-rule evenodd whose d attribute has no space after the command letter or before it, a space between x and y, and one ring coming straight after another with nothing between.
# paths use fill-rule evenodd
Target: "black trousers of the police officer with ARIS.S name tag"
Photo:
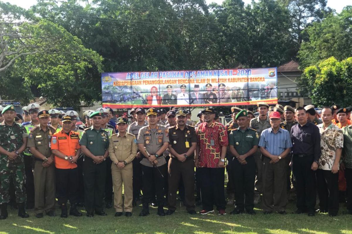
<instances>
[{"instance_id":1,"label":"black trousers of the police officer with ARIS.S name tag","mask_svg":"<svg viewBox=\"0 0 352 234\"><path fill-rule=\"evenodd\" d=\"M164 206L165 204L165 180L167 180L168 166L166 164L158 167L164 178L156 167L147 167L142 165L143 178L143 204L149 204L153 198L157 198L157 204ZM154 190L155 188L155 190Z\"/></svg>"}]
</instances>

